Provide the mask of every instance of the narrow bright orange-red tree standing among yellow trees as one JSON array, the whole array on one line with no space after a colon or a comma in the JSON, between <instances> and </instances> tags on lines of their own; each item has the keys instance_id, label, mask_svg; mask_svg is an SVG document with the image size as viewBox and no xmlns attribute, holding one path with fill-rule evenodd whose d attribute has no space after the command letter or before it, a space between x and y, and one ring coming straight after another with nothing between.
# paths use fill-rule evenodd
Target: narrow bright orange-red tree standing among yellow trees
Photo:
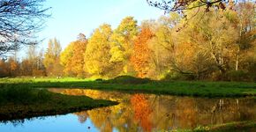
<instances>
[{"instance_id":1,"label":"narrow bright orange-red tree standing among yellow trees","mask_svg":"<svg viewBox=\"0 0 256 132\"><path fill-rule=\"evenodd\" d=\"M134 51L131 60L134 70L138 72L138 77L148 77L152 54L152 51L148 48L148 41L153 35L148 26L142 26L141 32L134 40Z\"/></svg>"}]
</instances>

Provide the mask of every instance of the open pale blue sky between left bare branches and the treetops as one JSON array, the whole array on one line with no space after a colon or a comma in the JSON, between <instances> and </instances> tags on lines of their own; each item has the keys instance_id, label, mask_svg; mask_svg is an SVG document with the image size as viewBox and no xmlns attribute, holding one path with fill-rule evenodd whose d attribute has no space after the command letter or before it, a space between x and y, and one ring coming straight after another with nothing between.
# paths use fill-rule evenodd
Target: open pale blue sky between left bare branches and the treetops
<instances>
[{"instance_id":1,"label":"open pale blue sky between left bare branches and the treetops","mask_svg":"<svg viewBox=\"0 0 256 132\"><path fill-rule=\"evenodd\" d=\"M56 37L65 48L76 40L79 33L85 33L87 38L94 29L103 23L116 28L120 21L133 16L138 22L145 19L159 18L163 11L151 7L146 0L47 0L46 7L52 7L51 18L38 33L45 39L40 47L47 48L50 38Z\"/></svg>"}]
</instances>

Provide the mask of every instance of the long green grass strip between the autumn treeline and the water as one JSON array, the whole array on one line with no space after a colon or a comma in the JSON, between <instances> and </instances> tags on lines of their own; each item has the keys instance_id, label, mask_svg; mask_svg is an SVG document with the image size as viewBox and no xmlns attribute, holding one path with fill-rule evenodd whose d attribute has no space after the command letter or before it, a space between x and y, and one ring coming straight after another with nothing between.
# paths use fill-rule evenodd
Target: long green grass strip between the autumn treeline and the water
<instances>
[{"instance_id":1,"label":"long green grass strip between the autumn treeline and the water","mask_svg":"<svg viewBox=\"0 0 256 132\"><path fill-rule=\"evenodd\" d=\"M132 80L133 79L133 80ZM134 78L108 81L77 78L2 78L1 87L18 84L33 88L87 88L121 92L147 92L194 97L255 97L256 83L202 82L202 81L150 81ZM132 80L132 81L131 81Z\"/></svg>"}]
</instances>

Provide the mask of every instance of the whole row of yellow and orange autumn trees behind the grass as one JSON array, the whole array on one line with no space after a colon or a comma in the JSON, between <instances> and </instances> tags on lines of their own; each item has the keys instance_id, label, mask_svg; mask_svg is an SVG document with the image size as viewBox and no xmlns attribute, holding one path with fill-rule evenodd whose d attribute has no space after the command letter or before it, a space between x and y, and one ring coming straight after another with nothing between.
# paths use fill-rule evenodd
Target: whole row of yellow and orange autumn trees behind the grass
<instances>
[{"instance_id":1,"label":"whole row of yellow and orange autumn trees behind the grass","mask_svg":"<svg viewBox=\"0 0 256 132\"><path fill-rule=\"evenodd\" d=\"M126 17L116 29L103 24L88 39L80 33L64 51L56 39L45 53L30 46L21 62L15 55L2 59L0 76L256 80L254 4L184 14L140 25Z\"/></svg>"}]
</instances>

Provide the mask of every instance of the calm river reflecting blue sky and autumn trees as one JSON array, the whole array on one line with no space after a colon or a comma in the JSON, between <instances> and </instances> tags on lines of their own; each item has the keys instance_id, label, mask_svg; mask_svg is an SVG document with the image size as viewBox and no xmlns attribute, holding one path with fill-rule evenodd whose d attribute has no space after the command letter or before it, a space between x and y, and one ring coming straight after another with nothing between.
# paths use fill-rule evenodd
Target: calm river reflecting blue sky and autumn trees
<instances>
[{"instance_id":1,"label":"calm river reflecting blue sky and autumn trees","mask_svg":"<svg viewBox=\"0 0 256 132\"><path fill-rule=\"evenodd\" d=\"M166 131L255 119L255 99L207 99L85 89L49 89L68 95L120 102L117 106L0 123L0 130Z\"/></svg>"}]
</instances>

